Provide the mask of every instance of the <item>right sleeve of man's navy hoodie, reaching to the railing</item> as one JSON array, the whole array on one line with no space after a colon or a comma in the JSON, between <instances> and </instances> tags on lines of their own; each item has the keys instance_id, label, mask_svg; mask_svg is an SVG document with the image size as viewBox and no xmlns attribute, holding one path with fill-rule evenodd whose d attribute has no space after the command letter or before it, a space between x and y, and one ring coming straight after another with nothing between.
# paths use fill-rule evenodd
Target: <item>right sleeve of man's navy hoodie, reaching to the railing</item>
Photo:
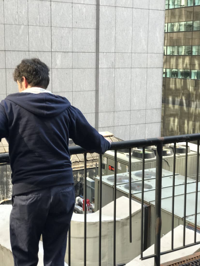
<instances>
[{"instance_id":1,"label":"right sleeve of man's navy hoodie, reaching to the railing","mask_svg":"<svg viewBox=\"0 0 200 266\"><path fill-rule=\"evenodd\" d=\"M70 118L69 137L74 143L86 151L103 154L110 149L110 143L98 131L92 127L79 109L70 106L68 109Z\"/></svg>"}]
</instances>

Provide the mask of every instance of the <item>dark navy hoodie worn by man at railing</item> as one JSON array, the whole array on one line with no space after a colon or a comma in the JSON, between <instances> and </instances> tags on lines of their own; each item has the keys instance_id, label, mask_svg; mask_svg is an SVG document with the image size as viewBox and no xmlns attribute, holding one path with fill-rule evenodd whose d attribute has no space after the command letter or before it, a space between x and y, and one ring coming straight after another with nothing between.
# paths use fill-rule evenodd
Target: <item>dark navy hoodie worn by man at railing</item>
<instances>
[{"instance_id":1,"label":"dark navy hoodie worn by man at railing","mask_svg":"<svg viewBox=\"0 0 200 266\"><path fill-rule=\"evenodd\" d=\"M0 140L9 141L13 195L73 183L69 138L103 154L110 143L65 98L15 93L0 103Z\"/></svg>"}]
</instances>

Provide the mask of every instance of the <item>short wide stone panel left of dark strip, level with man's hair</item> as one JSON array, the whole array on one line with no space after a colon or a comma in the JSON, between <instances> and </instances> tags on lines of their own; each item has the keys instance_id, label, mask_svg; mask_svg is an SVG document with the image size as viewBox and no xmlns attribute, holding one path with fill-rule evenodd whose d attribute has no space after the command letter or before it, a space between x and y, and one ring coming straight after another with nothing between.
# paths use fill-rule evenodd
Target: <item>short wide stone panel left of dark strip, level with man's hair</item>
<instances>
[{"instance_id":1,"label":"short wide stone panel left of dark strip, level with man's hair","mask_svg":"<svg viewBox=\"0 0 200 266\"><path fill-rule=\"evenodd\" d=\"M95 68L96 53L72 53L73 68Z\"/></svg>"}]
</instances>

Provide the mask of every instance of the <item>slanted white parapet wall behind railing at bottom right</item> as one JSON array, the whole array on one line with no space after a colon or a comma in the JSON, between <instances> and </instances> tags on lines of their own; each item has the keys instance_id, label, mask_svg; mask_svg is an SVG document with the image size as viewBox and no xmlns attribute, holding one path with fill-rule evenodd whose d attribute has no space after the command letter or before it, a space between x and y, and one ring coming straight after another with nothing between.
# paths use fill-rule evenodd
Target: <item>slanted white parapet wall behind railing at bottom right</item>
<instances>
[{"instance_id":1,"label":"slanted white parapet wall behind railing at bottom right","mask_svg":"<svg viewBox=\"0 0 200 266\"><path fill-rule=\"evenodd\" d=\"M197 233L197 242L200 241L200 234ZM190 229L185 229L185 244L194 243L194 231ZM183 225L179 225L174 228L174 248L183 246ZM161 252L171 250L171 231L161 238ZM200 244L187 247L181 250L173 251L161 256L161 263L165 263L177 258L185 257L191 255L195 252L200 251ZM154 245L147 248L143 252L143 257L154 254ZM154 266L154 258L141 260L140 255L135 259L127 263L127 266Z\"/></svg>"}]
</instances>

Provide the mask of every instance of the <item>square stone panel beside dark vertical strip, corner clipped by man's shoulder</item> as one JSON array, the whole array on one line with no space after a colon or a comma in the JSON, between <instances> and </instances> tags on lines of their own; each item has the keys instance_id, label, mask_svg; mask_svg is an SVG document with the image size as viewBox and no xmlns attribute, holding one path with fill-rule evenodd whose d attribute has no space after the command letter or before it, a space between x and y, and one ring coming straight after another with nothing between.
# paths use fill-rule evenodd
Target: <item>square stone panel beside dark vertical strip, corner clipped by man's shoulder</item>
<instances>
[{"instance_id":1,"label":"square stone panel beside dark vertical strip, corner clipped by man's shoulder","mask_svg":"<svg viewBox=\"0 0 200 266\"><path fill-rule=\"evenodd\" d=\"M82 113L95 113L95 92L73 92L73 105Z\"/></svg>"}]
</instances>

